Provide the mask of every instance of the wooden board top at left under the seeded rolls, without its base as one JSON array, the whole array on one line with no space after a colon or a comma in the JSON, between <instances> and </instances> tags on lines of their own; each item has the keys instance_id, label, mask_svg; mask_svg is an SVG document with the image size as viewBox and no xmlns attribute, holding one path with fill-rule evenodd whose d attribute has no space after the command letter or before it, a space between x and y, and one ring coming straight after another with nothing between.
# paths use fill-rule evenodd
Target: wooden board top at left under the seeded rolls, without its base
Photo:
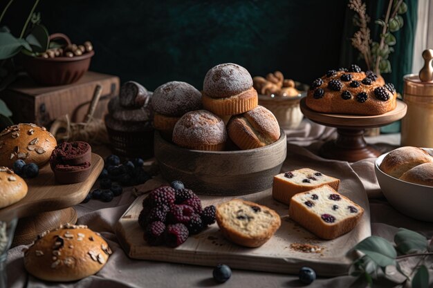
<instances>
[{"instance_id":1,"label":"wooden board top at left under the seeded rolls, without its base","mask_svg":"<svg viewBox=\"0 0 433 288\"><path fill-rule=\"evenodd\" d=\"M92 153L91 173L84 182L58 184L55 182L50 165L46 164L39 170L37 177L25 179L28 186L26 197L11 206L0 209L0 217L3 213L6 214L11 210L16 211L18 218L24 218L79 204L86 198L103 168L104 160L102 157Z\"/></svg>"}]
</instances>

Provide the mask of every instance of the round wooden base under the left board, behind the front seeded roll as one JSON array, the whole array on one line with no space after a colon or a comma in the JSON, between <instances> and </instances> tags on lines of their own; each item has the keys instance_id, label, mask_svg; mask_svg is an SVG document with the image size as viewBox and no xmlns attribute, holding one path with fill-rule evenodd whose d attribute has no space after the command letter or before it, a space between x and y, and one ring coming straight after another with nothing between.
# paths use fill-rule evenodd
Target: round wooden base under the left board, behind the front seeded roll
<instances>
[{"instance_id":1,"label":"round wooden base under the left board, behind the front seeded roll","mask_svg":"<svg viewBox=\"0 0 433 288\"><path fill-rule=\"evenodd\" d=\"M30 244L40 233L55 229L61 224L77 222L77 211L73 208L66 208L57 211L39 213L18 221L15 229L12 247L22 244Z\"/></svg>"}]
</instances>

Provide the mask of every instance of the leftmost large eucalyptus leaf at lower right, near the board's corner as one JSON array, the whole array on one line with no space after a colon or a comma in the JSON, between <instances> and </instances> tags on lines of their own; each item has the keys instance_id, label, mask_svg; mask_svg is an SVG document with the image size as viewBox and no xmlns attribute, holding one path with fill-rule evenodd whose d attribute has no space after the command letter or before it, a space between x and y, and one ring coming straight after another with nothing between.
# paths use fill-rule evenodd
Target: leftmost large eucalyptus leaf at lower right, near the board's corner
<instances>
[{"instance_id":1,"label":"leftmost large eucalyptus leaf at lower right, near the board's corner","mask_svg":"<svg viewBox=\"0 0 433 288\"><path fill-rule=\"evenodd\" d=\"M396 249L392 244L384 238L378 236L370 236L365 238L354 249L365 253L371 260L376 262L380 267L396 264Z\"/></svg>"}]
</instances>

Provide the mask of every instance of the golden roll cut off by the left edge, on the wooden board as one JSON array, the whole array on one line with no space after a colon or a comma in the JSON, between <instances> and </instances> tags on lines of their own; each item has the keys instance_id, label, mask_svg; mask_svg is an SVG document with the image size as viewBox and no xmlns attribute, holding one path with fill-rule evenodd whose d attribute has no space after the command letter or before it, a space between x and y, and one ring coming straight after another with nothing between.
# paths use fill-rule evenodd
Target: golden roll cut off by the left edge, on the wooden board
<instances>
[{"instance_id":1,"label":"golden roll cut off by the left edge, on the wooden board","mask_svg":"<svg viewBox=\"0 0 433 288\"><path fill-rule=\"evenodd\" d=\"M0 209L26 197L27 190L26 182L14 171L0 167Z\"/></svg>"}]
</instances>

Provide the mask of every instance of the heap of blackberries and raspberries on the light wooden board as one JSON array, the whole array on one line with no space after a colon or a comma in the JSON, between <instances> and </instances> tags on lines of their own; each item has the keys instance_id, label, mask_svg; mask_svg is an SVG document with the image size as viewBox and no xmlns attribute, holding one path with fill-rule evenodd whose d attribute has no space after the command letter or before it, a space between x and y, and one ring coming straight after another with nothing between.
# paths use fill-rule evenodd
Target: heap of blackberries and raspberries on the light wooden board
<instances>
[{"instance_id":1,"label":"heap of blackberries and raspberries on the light wooden board","mask_svg":"<svg viewBox=\"0 0 433 288\"><path fill-rule=\"evenodd\" d=\"M215 222L215 207L201 207L201 200L180 181L154 189L143 200L138 224L149 245L178 247L188 236Z\"/></svg>"}]
</instances>

